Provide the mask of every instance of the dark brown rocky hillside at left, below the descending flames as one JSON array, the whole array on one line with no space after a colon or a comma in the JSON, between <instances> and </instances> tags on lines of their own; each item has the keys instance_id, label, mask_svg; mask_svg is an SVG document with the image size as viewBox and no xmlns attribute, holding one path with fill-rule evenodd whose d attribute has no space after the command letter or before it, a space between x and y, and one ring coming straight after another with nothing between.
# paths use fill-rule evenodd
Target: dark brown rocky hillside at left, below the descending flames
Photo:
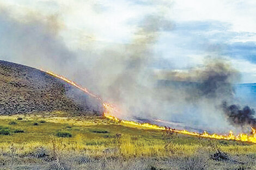
<instances>
[{"instance_id":1,"label":"dark brown rocky hillside at left, below the descending flames","mask_svg":"<svg viewBox=\"0 0 256 170\"><path fill-rule=\"evenodd\" d=\"M101 104L63 80L0 60L0 115L44 111L100 114Z\"/></svg>"}]
</instances>

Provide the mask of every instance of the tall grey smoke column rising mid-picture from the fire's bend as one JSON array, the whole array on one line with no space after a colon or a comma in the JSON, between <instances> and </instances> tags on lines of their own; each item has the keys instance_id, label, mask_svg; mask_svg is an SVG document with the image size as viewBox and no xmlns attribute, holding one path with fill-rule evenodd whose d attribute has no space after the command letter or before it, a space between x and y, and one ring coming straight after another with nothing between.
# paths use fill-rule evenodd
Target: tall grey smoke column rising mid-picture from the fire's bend
<instances>
[{"instance_id":1,"label":"tall grey smoke column rising mid-picture from the fire's bend","mask_svg":"<svg viewBox=\"0 0 256 170\"><path fill-rule=\"evenodd\" d=\"M115 53L114 56L118 58L118 62L111 60L113 65L120 66L120 70L118 67L114 70L118 71L118 74L112 74L114 76L109 79L111 81L106 79L108 75L102 79L104 82L102 84L104 86L107 84L108 87L102 93L107 95L108 99L125 104L123 109L127 112L130 112L130 107L137 108L137 111L141 112L139 109L151 100L150 97L154 92L154 82L150 77L152 70L149 68L153 60L151 48L156 43L160 29L171 30L172 28L172 23L165 21L161 16L149 15L144 18L132 42L124 46L124 51ZM106 62L103 63L105 64Z\"/></svg>"}]
</instances>

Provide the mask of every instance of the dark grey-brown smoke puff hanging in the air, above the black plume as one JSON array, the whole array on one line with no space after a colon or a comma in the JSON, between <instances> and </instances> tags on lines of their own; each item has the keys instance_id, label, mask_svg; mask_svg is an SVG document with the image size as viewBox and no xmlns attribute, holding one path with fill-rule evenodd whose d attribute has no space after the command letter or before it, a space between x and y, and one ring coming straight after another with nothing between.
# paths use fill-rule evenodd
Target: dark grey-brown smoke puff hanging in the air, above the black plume
<instances>
[{"instance_id":1,"label":"dark grey-brown smoke puff hanging in the air, above the black plume","mask_svg":"<svg viewBox=\"0 0 256 170\"><path fill-rule=\"evenodd\" d=\"M193 88L188 94L198 98L231 98L234 96L233 83L240 79L239 72L227 60L218 57L205 58L202 65L190 70L159 72L156 77L183 83L184 87Z\"/></svg>"}]
</instances>

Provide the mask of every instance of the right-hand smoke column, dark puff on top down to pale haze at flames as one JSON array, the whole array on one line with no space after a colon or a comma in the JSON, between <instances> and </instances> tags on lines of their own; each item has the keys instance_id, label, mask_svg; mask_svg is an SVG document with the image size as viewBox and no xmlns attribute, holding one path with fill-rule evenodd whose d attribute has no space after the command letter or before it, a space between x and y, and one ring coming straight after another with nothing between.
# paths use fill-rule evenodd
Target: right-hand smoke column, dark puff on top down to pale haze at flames
<instances>
[{"instance_id":1,"label":"right-hand smoke column, dark puff on top down to pale haze at flames","mask_svg":"<svg viewBox=\"0 0 256 170\"><path fill-rule=\"evenodd\" d=\"M220 105L233 102L233 84L240 73L218 56L206 57L201 65L188 70L158 71L160 105L171 114L163 119L185 122L188 127L225 131L231 128ZM159 106L160 106L159 105Z\"/></svg>"}]
</instances>

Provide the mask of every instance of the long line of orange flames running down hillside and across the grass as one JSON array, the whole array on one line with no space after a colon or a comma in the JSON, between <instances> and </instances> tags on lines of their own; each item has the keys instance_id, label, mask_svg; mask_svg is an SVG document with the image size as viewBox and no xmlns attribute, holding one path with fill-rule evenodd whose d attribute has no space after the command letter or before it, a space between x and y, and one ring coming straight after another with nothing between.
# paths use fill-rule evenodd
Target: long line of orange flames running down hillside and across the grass
<instances>
[{"instance_id":1,"label":"long line of orange flames running down hillside and across the grass","mask_svg":"<svg viewBox=\"0 0 256 170\"><path fill-rule=\"evenodd\" d=\"M41 71L44 71L44 70L41 70ZM207 131L204 131L203 134L200 134L200 133L191 132L191 131L187 131L187 130L177 130L177 129L167 128L167 127L160 127L158 125L150 124L150 123L138 123L138 122L133 122L133 121L121 120L114 116L114 115L118 115L118 113L120 113L120 110L113 104L110 104L107 102L102 102L102 99L100 97L94 95L93 93L89 92L86 88L76 84L74 81L71 81L71 80L63 77L62 75L54 74L53 72L50 72L50 71L44 71L44 72L51 74L54 77L57 77L59 79L62 79L64 81L66 81L66 83L69 83L69 84L77 87L78 89L82 90L83 92L87 93L88 95L100 100L100 102L102 103L103 108L104 108L103 116L105 116L106 118L109 118L113 121L117 121L117 122L124 123L124 124L129 124L129 125L135 126L135 127L144 127L144 128L156 129L156 130L169 130L169 131L172 131L173 133L196 136L196 137L215 138L217 140L234 140L234 141L256 143L256 129L254 129L254 128L251 128L252 133L250 135L239 134L239 135L235 136L233 131L231 131L231 130L229 131L228 135L209 134Z\"/></svg>"}]
</instances>

